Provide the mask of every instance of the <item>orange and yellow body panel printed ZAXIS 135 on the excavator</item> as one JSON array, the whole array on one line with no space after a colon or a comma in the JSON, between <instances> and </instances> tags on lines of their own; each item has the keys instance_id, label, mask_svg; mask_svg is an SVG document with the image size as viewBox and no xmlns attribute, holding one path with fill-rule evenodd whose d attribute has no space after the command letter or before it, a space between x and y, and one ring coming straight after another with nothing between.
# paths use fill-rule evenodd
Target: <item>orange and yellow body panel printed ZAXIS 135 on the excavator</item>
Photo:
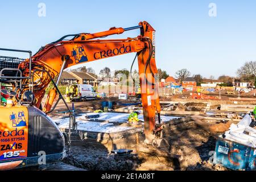
<instances>
[{"instance_id":1,"label":"orange and yellow body panel printed ZAXIS 135 on the excavator","mask_svg":"<svg viewBox=\"0 0 256 182\"><path fill-rule=\"evenodd\" d=\"M1 162L23 159L28 154L28 109L26 106L0 106L0 138L3 146L0 151ZM15 165L17 163L11 163ZM4 164L0 168L6 168Z\"/></svg>"}]
</instances>

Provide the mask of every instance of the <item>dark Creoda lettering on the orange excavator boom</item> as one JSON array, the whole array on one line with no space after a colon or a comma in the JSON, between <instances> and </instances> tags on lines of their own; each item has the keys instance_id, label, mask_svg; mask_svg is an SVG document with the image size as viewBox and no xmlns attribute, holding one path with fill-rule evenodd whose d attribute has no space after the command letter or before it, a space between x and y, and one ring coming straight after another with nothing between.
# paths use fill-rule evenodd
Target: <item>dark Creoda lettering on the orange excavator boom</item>
<instances>
[{"instance_id":1,"label":"dark Creoda lettering on the orange excavator boom","mask_svg":"<svg viewBox=\"0 0 256 182\"><path fill-rule=\"evenodd\" d=\"M105 57L116 56L119 54L129 53L129 52L131 52L131 46L125 46L125 44L123 44L123 46L120 48L108 49L108 51L100 51L100 52L94 53L94 59L96 60L103 59Z\"/></svg>"}]
</instances>

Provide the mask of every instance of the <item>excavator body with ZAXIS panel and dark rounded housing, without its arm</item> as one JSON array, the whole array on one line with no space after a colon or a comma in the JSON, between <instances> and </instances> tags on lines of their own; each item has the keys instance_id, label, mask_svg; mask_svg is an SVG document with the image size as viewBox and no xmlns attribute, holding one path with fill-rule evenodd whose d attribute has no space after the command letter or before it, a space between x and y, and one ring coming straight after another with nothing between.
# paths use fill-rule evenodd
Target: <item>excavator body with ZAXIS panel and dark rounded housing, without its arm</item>
<instances>
[{"instance_id":1,"label":"excavator body with ZAXIS panel and dark rounded housing, without its arm","mask_svg":"<svg viewBox=\"0 0 256 182\"><path fill-rule=\"evenodd\" d=\"M64 135L51 118L33 106L31 89L21 100L20 91L32 88L32 82L31 85L22 85L25 78L18 69L22 61L16 57L0 56L0 170L56 162L65 153Z\"/></svg>"}]
</instances>

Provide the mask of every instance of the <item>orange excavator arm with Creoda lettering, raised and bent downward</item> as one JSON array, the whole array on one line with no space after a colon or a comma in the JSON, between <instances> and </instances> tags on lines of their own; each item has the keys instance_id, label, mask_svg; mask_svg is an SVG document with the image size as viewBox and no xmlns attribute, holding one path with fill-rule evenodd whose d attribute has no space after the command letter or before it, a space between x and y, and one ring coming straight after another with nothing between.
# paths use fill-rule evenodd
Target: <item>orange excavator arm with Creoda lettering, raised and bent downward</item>
<instances>
[{"instance_id":1,"label":"orange excavator arm with Creoda lettering, raised and bent downward","mask_svg":"<svg viewBox=\"0 0 256 182\"><path fill-rule=\"evenodd\" d=\"M122 34L136 28L141 30L141 35L137 38L98 39L109 35ZM65 40L70 36L73 36L71 40ZM140 22L139 26L130 28L114 27L108 31L95 34L64 36L56 42L42 47L32 56L31 72L47 71L52 78L57 77L57 85L65 68L132 52L137 52L138 55L146 143L154 144L155 138L157 138L156 134L159 134L162 126L160 126L158 79L156 79L158 71L155 63L155 30L147 22ZM29 60L26 60L19 65L24 76L29 74L28 64ZM29 80L24 80L23 85L28 85L28 82ZM49 82L51 82L51 79L46 72L34 72L34 82L32 84L36 107L40 106ZM26 91L26 89L23 90ZM43 108L44 112L47 113L51 110L56 94L56 89L49 92L46 105ZM159 125L155 122L156 113L159 116Z\"/></svg>"}]
</instances>

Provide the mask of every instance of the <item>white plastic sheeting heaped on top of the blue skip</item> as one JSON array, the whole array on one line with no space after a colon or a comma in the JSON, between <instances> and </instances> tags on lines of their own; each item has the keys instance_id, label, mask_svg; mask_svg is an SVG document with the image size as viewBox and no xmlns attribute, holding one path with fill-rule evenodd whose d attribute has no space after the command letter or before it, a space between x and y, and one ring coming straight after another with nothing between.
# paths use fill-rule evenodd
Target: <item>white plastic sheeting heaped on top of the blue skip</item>
<instances>
[{"instance_id":1,"label":"white plastic sheeting heaped on top of the blue skip","mask_svg":"<svg viewBox=\"0 0 256 182\"><path fill-rule=\"evenodd\" d=\"M226 131L225 138L256 148L256 130L250 127L251 117L246 115L237 125L232 124Z\"/></svg>"}]
</instances>

